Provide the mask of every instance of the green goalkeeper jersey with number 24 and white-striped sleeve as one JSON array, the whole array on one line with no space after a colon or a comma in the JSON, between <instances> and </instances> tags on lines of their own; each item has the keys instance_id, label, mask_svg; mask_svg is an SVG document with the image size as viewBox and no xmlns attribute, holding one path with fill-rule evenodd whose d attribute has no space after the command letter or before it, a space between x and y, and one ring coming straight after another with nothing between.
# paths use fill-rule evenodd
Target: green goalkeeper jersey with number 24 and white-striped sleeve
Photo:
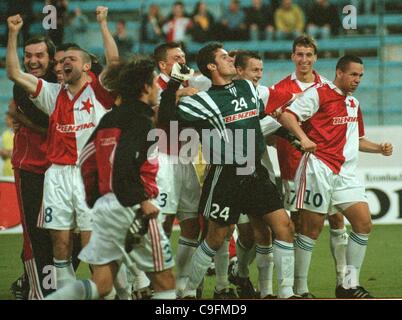
<instances>
[{"instance_id":1,"label":"green goalkeeper jersey with number 24 and white-striped sleeve","mask_svg":"<svg viewBox=\"0 0 402 320\"><path fill-rule=\"evenodd\" d=\"M260 162L265 142L259 120L265 113L251 81L235 80L184 97L179 101L177 115L181 120L194 122L208 163Z\"/></svg>"}]
</instances>

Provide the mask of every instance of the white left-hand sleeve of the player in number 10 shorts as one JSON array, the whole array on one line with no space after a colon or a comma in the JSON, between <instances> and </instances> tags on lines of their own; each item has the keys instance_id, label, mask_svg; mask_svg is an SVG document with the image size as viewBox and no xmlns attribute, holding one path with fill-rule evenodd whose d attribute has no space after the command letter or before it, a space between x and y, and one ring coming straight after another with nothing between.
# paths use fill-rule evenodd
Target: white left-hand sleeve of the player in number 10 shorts
<instances>
[{"instance_id":1,"label":"white left-hand sleeve of the player in number 10 shorts","mask_svg":"<svg viewBox=\"0 0 402 320\"><path fill-rule=\"evenodd\" d=\"M286 111L294 113L298 120L304 122L310 119L319 108L320 98L316 88L310 88L296 98L293 103L286 108Z\"/></svg>"}]
</instances>

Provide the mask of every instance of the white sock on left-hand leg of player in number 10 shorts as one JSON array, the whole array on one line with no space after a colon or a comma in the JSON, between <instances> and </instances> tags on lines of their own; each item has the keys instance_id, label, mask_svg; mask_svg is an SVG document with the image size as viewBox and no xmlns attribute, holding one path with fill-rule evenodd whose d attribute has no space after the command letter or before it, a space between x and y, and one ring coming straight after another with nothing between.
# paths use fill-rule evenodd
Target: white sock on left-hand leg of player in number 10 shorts
<instances>
[{"instance_id":1,"label":"white sock on left-hand leg of player in number 10 shorts","mask_svg":"<svg viewBox=\"0 0 402 320\"><path fill-rule=\"evenodd\" d=\"M299 234L295 243L295 292L303 294L309 292L307 279L315 240Z\"/></svg>"}]
</instances>

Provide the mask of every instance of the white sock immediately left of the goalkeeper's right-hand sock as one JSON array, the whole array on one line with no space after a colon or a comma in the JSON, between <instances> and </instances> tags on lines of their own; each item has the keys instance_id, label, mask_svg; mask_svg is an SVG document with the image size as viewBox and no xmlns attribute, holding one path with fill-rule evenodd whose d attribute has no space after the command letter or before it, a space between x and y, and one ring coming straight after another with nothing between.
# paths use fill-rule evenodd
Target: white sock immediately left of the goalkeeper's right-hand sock
<instances>
[{"instance_id":1,"label":"white sock immediately left of the goalkeeper's right-hand sock","mask_svg":"<svg viewBox=\"0 0 402 320\"><path fill-rule=\"evenodd\" d=\"M274 271L274 254L272 245L256 245L255 262L258 268L258 285L260 288L260 297L272 295L272 278Z\"/></svg>"}]
</instances>

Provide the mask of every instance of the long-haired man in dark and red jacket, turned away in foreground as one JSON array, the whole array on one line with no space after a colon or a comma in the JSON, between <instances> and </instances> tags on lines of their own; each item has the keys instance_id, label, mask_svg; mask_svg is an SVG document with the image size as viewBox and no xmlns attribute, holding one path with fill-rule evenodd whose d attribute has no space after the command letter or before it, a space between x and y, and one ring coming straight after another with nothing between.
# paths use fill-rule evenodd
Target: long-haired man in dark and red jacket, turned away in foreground
<instances>
[{"instance_id":1,"label":"long-haired man in dark and red jacket, turned away in foreground","mask_svg":"<svg viewBox=\"0 0 402 320\"><path fill-rule=\"evenodd\" d=\"M120 96L121 104L102 118L80 159L86 201L95 213L93 234L80 259L92 266L92 278L75 281L48 299L105 297L113 288L122 259L127 259L125 250L149 273L153 299L176 297L169 239L157 219L156 150L147 139L159 91L154 63L142 59L124 65L117 74L113 71L119 81L111 89ZM125 241L133 219L148 220L149 226L131 251L125 249Z\"/></svg>"}]
</instances>

